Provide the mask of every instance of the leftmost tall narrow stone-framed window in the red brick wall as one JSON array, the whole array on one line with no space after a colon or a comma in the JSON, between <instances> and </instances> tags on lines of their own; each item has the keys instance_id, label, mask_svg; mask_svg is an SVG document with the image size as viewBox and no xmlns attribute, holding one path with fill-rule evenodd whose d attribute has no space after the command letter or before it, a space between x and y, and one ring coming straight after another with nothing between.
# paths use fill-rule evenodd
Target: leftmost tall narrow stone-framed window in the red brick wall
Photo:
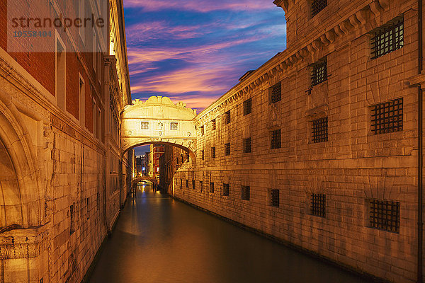
<instances>
[{"instance_id":1,"label":"leftmost tall narrow stone-framed window in the red brick wall","mask_svg":"<svg viewBox=\"0 0 425 283\"><path fill-rule=\"evenodd\" d=\"M60 37L56 38L56 74L55 74L55 96L57 101L57 106L62 109L65 109L66 104L66 52L65 45L60 40Z\"/></svg>"}]
</instances>

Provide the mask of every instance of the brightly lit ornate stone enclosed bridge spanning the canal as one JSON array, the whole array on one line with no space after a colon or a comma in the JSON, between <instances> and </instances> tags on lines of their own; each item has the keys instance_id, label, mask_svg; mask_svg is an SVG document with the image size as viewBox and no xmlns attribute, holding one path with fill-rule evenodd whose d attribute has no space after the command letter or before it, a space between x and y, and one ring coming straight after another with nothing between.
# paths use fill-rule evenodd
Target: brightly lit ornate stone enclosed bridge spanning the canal
<instances>
[{"instance_id":1,"label":"brightly lit ornate stone enclosed bridge spanning the canal","mask_svg":"<svg viewBox=\"0 0 425 283\"><path fill-rule=\"evenodd\" d=\"M121 115L123 152L143 144L172 144L189 151L196 161L196 110L170 98L152 96L145 103L134 100Z\"/></svg>"}]
</instances>

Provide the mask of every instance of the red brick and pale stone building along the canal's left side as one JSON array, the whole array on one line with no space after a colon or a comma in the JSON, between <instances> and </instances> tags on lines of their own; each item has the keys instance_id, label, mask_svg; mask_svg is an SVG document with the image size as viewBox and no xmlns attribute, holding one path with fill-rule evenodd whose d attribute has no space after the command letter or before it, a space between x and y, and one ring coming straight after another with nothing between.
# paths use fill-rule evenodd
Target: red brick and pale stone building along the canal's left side
<instances>
[{"instance_id":1,"label":"red brick and pale stone building along the canal's left side","mask_svg":"<svg viewBox=\"0 0 425 283\"><path fill-rule=\"evenodd\" d=\"M0 1L0 282L81 282L132 178L119 138L131 101L123 2L28 4L107 28L56 28L55 52L13 52L6 13L21 7Z\"/></svg>"}]
</instances>

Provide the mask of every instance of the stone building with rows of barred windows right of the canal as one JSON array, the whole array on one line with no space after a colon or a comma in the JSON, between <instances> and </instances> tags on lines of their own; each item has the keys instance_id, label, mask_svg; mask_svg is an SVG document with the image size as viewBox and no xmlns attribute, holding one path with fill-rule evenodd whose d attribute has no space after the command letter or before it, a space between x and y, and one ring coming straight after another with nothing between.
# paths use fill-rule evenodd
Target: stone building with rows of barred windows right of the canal
<instances>
[{"instance_id":1,"label":"stone building with rows of barred windows right of the canal","mask_svg":"<svg viewBox=\"0 0 425 283\"><path fill-rule=\"evenodd\" d=\"M195 117L196 158L166 148L162 185L352 270L421 282L421 1L274 3L287 48Z\"/></svg>"}]
</instances>

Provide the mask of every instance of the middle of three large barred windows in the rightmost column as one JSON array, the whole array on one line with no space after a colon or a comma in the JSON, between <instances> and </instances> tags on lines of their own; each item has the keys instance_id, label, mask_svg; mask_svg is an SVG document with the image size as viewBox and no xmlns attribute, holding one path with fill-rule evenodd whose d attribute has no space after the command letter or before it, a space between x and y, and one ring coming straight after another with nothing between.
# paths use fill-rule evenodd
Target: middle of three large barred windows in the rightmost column
<instances>
[{"instance_id":1,"label":"middle of three large barred windows in the rightmost column","mask_svg":"<svg viewBox=\"0 0 425 283\"><path fill-rule=\"evenodd\" d=\"M403 130L403 98L372 106L372 132L385 134Z\"/></svg>"}]
</instances>

